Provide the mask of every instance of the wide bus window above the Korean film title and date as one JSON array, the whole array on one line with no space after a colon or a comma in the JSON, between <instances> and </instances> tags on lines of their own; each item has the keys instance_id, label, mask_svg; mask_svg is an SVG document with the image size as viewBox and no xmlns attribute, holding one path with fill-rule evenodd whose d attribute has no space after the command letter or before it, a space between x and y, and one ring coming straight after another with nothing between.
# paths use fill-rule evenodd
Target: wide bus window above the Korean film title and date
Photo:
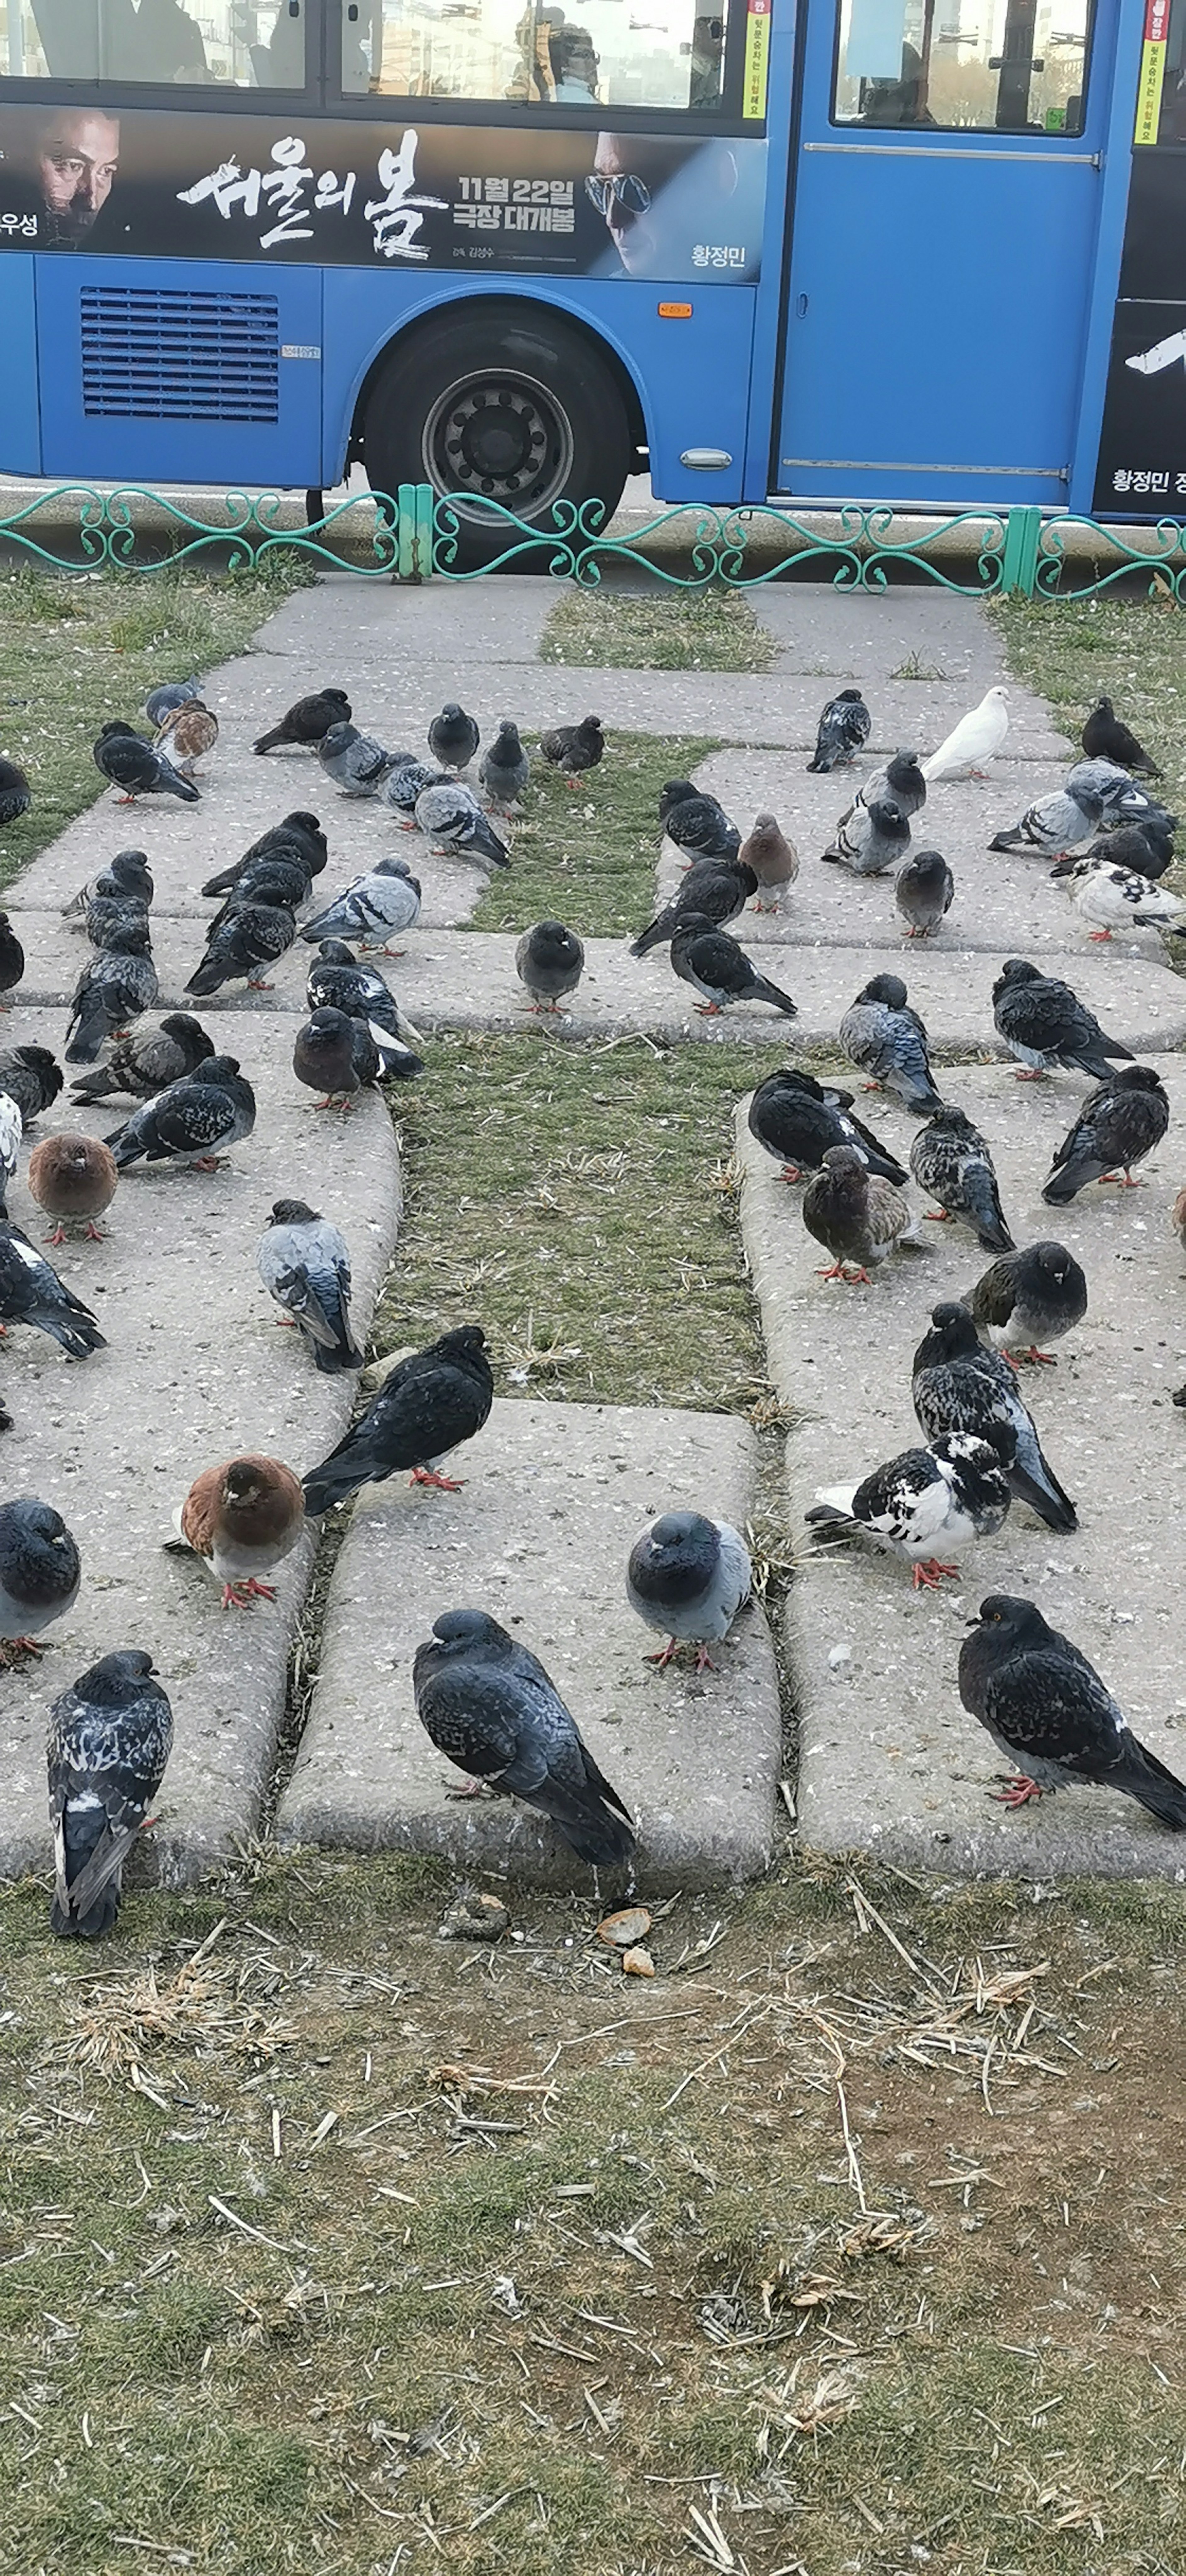
<instances>
[{"instance_id":1,"label":"wide bus window above the Korean film title and date","mask_svg":"<svg viewBox=\"0 0 1186 2576\"><path fill-rule=\"evenodd\" d=\"M345 0L347 98L715 108L725 10L695 0Z\"/></svg>"}]
</instances>

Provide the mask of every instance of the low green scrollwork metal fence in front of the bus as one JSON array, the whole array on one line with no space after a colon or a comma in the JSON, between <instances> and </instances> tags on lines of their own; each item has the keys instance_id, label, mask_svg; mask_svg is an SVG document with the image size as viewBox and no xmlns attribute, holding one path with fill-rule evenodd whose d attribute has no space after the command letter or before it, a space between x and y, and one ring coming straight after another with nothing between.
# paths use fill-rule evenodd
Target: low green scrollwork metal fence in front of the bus
<instances>
[{"instance_id":1,"label":"low green scrollwork metal fence in front of the bus","mask_svg":"<svg viewBox=\"0 0 1186 2576\"><path fill-rule=\"evenodd\" d=\"M836 590L926 580L962 598L1086 598L1117 585L1186 598L1178 520L1119 531L1042 510L954 510L921 520L857 505L803 518L774 505L682 505L617 528L602 520L597 500L556 502L548 526L535 526L499 502L437 497L430 484L350 497L314 520L283 492L211 495L198 515L144 484L113 492L54 484L0 515L0 546L8 559L64 572L162 572L185 562L257 572L283 551L311 569L391 582L473 582L515 569L594 587L610 569L638 569L677 590L756 590L808 574ZM481 562L473 562L473 538L481 538Z\"/></svg>"}]
</instances>

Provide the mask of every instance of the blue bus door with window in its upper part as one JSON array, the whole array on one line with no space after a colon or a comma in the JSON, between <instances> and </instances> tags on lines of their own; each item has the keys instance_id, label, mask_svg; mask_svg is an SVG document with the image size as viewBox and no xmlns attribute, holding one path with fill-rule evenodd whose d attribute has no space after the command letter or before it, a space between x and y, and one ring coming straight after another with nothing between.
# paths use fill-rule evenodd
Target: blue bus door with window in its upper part
<instances>
[{"instance_id":1,"label":"blue bus door with window in its upper part","mask_svg":"<svg viewBox=\"0 0 1186 2576\"><path fill-rule=\"evenodd\" d=\"M774 489L1065 507L1117 0L808 0Z\"/></svg>"}]
</instances>

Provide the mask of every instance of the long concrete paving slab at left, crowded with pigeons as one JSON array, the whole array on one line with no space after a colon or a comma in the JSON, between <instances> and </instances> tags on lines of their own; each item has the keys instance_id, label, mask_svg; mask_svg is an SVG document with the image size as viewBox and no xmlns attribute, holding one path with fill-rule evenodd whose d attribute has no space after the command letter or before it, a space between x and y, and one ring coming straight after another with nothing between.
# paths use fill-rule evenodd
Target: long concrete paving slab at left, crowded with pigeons
<instances>
[{"instance_id":1,"label":"long concrete paving slab at left, crowded with pigeons","mask_svg":"<svg viewBox=\"0 0 1186 2576\"><path fill-rule=\"evenodd\" d=\"M232 1036L232 1033L229 1033ZM304 1471L340 1437L352 1376L322 1378L296 1332L280 1332L255 1275L255 1244L275 1198L304 1195L342 1224L355 1262L360 1334L399 1221L399 1154L381 1100L352 1118L319 1118L288 1069L288 1028L237 1012L234 1054L257 1090L257 1126L232 1167L126 1172L105 1244L67 1244L49 1260L93 1306L108 1347L67 1363L21 1324L5 1340L3 1492L51 1502L82 1551L82 1589L49 1654L3 1682L0 1875L49 1862L44 1736L51 1700L100 1654L147 1646L172 1700L178 1739L144 1865L167 1886L198 1878L252 1834L270 1780L293 1623L311 1535L278 1571L278 1602L221 1613L198 1558L165 1553L172 1512L203 1466L265 1450ZM59 1023L13 1010L3 1043L57 1043ZM85 1113L59 1100L31 1141L54 1128L111 1133L118 1105ZM46 1218L21 1177L15 1221L41 1242Z\"/></svg>"}]
</instances>

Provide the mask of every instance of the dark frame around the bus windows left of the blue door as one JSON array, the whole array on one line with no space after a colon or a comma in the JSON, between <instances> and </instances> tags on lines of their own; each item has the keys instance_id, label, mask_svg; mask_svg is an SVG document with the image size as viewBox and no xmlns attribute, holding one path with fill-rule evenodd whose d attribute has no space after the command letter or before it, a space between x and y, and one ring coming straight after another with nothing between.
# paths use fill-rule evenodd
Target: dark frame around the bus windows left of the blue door
<instances>
[{"instance_id":1,"label":"dark frame around the bus windows left of the blue door","mask_svg":"<svg viewBox=\"0 0 1186 2576\"><path fill-rule=\"evenodd\" d=\"M417 98L396 90L342 90L342 10L347 0L301 0L306 28L304 88L242 90L232 82L129 82L129 80L26 80L0 72L3 106L62 106L62 108L172 108L185 113L260 116L275 111L304 111L334 121L376 124L386 116L414 113L417 124L440 126L509 126L512 131L545 131L553 126L599 134L612 118L615 134L723 134L725 139L756 139L767 134L767 118L741 116L741 90L746 72L746 0L728 0L725 8L725 62L723 88L715 108L628 108L594 103L543 108L520 106L509 98ZM839 23L839 21L836 21Z\"/></svg>"}]
</instances>

